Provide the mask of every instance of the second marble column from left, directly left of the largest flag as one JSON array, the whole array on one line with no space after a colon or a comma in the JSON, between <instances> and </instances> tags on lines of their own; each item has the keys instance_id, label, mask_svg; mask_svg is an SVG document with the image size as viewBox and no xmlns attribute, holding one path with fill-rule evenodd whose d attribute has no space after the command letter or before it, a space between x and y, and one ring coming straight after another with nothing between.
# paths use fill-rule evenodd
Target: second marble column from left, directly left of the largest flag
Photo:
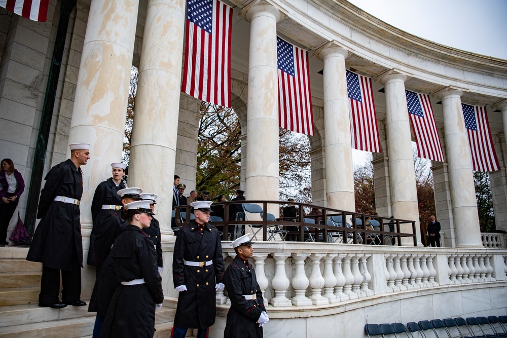
<instances>
[{"instance_id":1,"label":"second marble column from left, directly left of the largest flag","mask_svg":"<svg viewBox=\"0 0 507 338\"><path fill-rule=\"evenodd\" d=\"M172 235L185 3L148 0L130 146L129 185L155 193L162 234ZM149 165L147 165L149 164ZM160 171L163 168L163 173Z\"/></svg>"}]
</instances>

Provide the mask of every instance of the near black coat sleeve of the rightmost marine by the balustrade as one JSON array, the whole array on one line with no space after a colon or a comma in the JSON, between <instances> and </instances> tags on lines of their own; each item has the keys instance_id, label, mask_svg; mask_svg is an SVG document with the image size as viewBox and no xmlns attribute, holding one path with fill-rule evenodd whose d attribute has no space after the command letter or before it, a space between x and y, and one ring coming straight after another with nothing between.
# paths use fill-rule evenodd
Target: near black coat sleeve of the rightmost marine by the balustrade
<instances>
[{"instance_id":1,"label":"near black coat sleeve of the rightmost marine by the balustrade","mask_svg":"<svg viewBox=\"0 0 507 338\"><path fill-rule=\"evenodd\" d=\"M253 306L252 302L246 301L241 289L241 272L238 268L233 268L235 264L236 263L233 261L231 266L227 269L224 278L224 284L229 294L229 299L231 300L231 306L252 322L257 322L263 310Z\"/></svg>"}]
</instances>

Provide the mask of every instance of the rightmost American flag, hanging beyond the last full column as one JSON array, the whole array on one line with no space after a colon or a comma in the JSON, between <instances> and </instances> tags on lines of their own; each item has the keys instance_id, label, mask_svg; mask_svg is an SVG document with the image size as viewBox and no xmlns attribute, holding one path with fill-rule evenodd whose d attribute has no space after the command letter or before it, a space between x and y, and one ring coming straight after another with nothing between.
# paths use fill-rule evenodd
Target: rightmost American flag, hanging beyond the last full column
<instances>
[{"instance_id":1,"label":"rightmost American flag, hanging beyond the last full column","mask_svg":"<svg viewBox=\"0 0 507 338\"><path fill-rule=\"evenodd\" d=\"M500 168L495 147L491 138L486 107L461 103L463 118L473 169L477 171L495 171Z\"/></svg>"}]
</instances>

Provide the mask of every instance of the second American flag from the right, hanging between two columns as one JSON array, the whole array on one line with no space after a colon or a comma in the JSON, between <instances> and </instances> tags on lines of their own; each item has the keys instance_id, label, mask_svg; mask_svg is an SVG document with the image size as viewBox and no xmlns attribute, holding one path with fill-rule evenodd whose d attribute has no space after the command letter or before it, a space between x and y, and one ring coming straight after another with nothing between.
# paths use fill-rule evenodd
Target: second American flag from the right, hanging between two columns
<instances>
[{"instance_id":1,"label":"second American flag from the right, hanging between two columns","mask_svg":"<svg viewBox=\"0 0 507 338\"><path fill-rule=\"evenodd\" d=\"M419 157L444 162L437 124L429 95L405 91L412 130L414 131Z\"/></svg>"}]
</instances>

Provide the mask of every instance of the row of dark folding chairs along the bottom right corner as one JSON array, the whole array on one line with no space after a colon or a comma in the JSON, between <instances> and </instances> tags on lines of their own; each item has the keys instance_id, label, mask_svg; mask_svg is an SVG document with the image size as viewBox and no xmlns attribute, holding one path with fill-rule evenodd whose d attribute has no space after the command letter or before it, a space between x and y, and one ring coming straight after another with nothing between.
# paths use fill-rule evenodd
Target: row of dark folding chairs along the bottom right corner
<instances>
[{"instance_id":1,"label":"row of dark folding chairs along the bottom right corner","mask_svg":"<svg viewBox=\"0 0 507 338\"><path fill-rule=\"evenodd\" d=\"M454 328L459 334L458 337L461 338L507 337L507 316L421 320L418 323L407 323L407 326L402 323L365 325L369 337L379 335L382 337L390 337L391 335L393 337L403 337L406 335L408 338L414 338L413 333L417 332L423 338L453 338L456 336L456 332L453 332ZM488 330L493 333L487 334L485 331Z\"/></svg>"}]
</instances>

